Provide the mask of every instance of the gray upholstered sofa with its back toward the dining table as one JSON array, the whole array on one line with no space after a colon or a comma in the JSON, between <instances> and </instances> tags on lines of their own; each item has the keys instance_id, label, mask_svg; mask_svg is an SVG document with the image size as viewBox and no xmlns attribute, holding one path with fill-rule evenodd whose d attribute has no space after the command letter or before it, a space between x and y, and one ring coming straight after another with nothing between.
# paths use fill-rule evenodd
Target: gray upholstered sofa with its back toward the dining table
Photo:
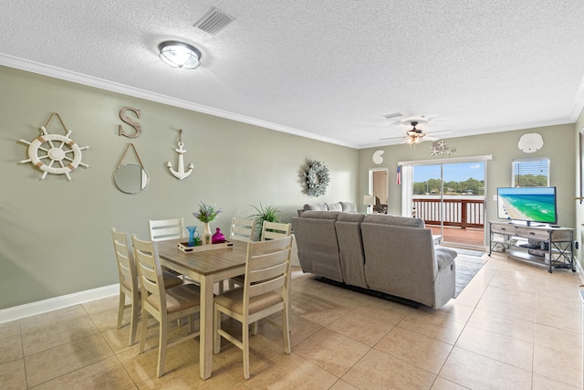
<instances>
[{"instance_id":1,"label":"gray upholstered sofa with its back toward the dining table","mask_svg":"<svg viewBox=\"0 0 584 390\"><path fill-rule=\"evenodd\" d=\"M456 252L420 218L307 210L292 228L304 272L436 309L454 297Z\"/></svg>"}]
</instances>

